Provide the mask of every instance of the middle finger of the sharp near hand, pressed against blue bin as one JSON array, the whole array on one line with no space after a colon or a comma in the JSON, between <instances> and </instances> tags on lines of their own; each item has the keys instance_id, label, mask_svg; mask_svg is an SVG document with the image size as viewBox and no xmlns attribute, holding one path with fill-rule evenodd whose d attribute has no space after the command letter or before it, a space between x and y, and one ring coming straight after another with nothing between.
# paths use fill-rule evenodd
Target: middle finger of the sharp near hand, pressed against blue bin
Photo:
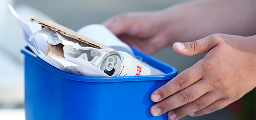
<instances>
[{"instance_id":1,"label":"middle finger of the sharp near hand, pressed against blue bin","mask_svg":"<svg viewBox=\"0 0 256 120\"><path fill-rule=\"evenodd\" d=\"M201 79L200 81L187 87L186 89L175 93L174 95L164 99L159 103L156 103L151 107L150 112L153 116L159 116L160 114L163 114L169 110L178 108L182 105L186 105L187 103L198 99L199 97L210 91L210 89L211 87L208 86L208 84L205 84L204 80ZM204 106L202 105L201 107Z\"/></svg>"}]
</instances>

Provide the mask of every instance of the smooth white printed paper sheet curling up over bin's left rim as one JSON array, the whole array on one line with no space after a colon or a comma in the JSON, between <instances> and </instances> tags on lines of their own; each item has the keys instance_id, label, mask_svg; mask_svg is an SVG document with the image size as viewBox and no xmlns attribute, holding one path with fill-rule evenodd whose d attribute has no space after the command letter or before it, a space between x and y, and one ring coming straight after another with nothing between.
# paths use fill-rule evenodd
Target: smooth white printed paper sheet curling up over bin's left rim
<instances>
[{"instance_id":1,"label":"smooth white printed paper sheet curling up over bin's left rim","mask_svg":"<svg viewBox=\"0 0 256 120\"><path fill-rule=\"evenodd\" d=\"M38 38L35 37L35 38L31 39L31 41L30 41L29 37L33 34L30 29L31 26L29 27L26 23L24 23L22 20L20 20L18 14L16 14L16 12L12 8L12 6L10 6L10 5L8 5L8 6L10 8L10 11L16 17L18 23L21 26L22 38L28 43L28 46L31 48L31 50L42 60L48 62L52 66L54 66L64 72L74 74L74 75L94 76L94 77L108 76L107 74L102 72L100 69L98 69L95 66L93 66L92 64L90 64L85 59L82 59L82 58L64 58L64 59L62 59L62 58L56 58L54 56L44 54L42 52L42 50L40 50L40 48L44 48L44 50L45 50L45 48L46 48L45 44L42 44L44 46L38 47L38 45L36 44L36 41L45 41L45 40L42 40L42 37L38 37ZM60 42L60 41L57 41L56 43L58 43L58 42ZM67 42L67 41L65 41L65 42ZM64 44L70 44L70 43L64 43ZM79 48L79 46L76 46L76 47ZM93 52L93 54L94 54L94 56L97 56L97 54L95 54L95 51ZM99 56L99 58L100 58L100 56ZM96 60L95 61L92 60L91 62L93 62L93 64L97 64Z\"/></svg>"}]
</instances>

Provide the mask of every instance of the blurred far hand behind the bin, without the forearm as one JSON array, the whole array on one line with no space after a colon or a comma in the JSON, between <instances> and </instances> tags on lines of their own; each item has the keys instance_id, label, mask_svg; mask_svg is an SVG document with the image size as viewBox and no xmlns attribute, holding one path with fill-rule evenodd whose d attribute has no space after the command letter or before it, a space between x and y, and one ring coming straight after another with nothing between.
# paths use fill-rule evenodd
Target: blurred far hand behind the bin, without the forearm
<instances>
[{"instance_id":1,"label":"blurred far hand behind the bin, without the forearm","mask_svg":"<svg viewBox=\"0 0 256 120\"><path fill-rule=\"evenodd\" d=\"M105 25L124 43L147 54L170 46L170 26L164 22L162 11L135 12L116 15Z\"/></svg>"}]
</instances>

